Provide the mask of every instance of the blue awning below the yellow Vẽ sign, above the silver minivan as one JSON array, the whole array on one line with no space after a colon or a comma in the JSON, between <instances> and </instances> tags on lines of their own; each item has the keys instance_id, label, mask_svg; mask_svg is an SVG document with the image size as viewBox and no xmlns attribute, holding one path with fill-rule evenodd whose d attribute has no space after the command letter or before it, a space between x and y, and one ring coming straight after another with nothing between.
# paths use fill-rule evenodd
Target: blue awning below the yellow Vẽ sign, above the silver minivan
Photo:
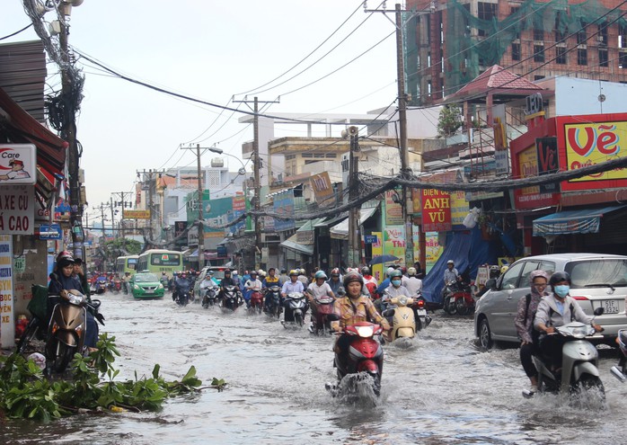
<instances>
[{"instance_id":1,"label":"blue awning below the yellow V\u1ebd sign, above the silver minivan","mask_svg":"<svg viewBox=\"0 0 627 445\"><path fill-rule=\"evenodd\" d=\"M534 236L596 234L601 225L601 217L606 213L623 209L624 207L627 206L564 210L542 218L537 218L534 219Z\"/></svg>"}]
</instances>

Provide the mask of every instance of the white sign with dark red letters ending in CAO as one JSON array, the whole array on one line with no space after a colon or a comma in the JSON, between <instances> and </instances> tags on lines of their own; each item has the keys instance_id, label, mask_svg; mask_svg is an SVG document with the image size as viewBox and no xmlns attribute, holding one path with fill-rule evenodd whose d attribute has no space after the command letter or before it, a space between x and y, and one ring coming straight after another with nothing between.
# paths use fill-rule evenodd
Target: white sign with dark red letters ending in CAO
<instances>
[{"instance_id":1,"label":"white sign with dark red letters ending in CAO","mask_svg":"<svg viewBox=\"0 0 627 445\"><path fill-rule=\"evenodd\" d=\"M35 188L31 185L0 187L0 234L35 233Z\"/></svg>"}]
</instances>

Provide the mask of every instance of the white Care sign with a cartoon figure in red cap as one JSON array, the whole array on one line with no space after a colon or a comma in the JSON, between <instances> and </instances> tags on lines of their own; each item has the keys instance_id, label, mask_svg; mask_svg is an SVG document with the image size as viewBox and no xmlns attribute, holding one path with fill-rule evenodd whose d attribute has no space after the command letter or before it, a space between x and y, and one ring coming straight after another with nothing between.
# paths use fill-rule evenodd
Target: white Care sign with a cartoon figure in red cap
<instances>
[{"instance_id":1,"label":"white Care sign with a cartoon figure in red cap","mask_svg":"<svg viewBox=\"0 0 627 445\"><path fill-rule=\"evenodd\" d=\"M37 159L32 144L0 144L0 184L37 182Z\"/></svg>"}]
</instances>

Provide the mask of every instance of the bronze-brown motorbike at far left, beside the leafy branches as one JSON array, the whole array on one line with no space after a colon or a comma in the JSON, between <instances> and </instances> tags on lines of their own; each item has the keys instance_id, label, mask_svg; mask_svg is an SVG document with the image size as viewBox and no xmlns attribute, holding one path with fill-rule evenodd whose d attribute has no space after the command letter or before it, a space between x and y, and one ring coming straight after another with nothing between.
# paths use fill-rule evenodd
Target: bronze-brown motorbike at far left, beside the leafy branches
<instances>
[{"instance_id":1,"label":"bronze-brown motorbike at far left, beside the leafy branches","mask_svg":"<svg viewBox=\"0 0 627 445\"><path fill-rule=\"evenodd\" d=\"M51 297L54 298L54 297ZM72 361L76 352L84 353L84 337L87 328L87 309L90 308L94 317L101 322L98 314L100 300L92 303L77 290L62 290L59 301L52 309L46 341L46 368L55 372L63 372Z\"/></svg>"}]
</instances>

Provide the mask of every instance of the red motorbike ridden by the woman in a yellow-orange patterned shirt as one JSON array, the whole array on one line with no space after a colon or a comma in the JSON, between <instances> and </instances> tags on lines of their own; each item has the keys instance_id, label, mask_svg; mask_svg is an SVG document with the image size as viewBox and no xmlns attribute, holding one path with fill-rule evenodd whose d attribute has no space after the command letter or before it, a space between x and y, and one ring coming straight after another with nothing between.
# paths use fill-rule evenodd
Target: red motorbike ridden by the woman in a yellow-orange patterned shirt
<instances>
[{"instance_id":1,"label":"red motorbike ridden by the woman in a yellow-orange patterned shirt","mask_svg":"<svg viewBox=\"0 0 627 445\"><path fill-rule=\"evenodd\" d=\"M340 316L330 314L331 321L337 321ZM337 369L338 384L327 384L326 387L331 393L342 384L345 378L362 379L363 374L372 378L372 390L376 396L381 392L381 375L384 367L384 350L375 339L375 335L383 333L381 325L374 323L358 322L355 325L344 327L341 335L349 337L349 347L345 351L340 351L336 344L335 359L333 366ZM339 341L341 339L338 339Z\"/></svg>"}]
</instances>

